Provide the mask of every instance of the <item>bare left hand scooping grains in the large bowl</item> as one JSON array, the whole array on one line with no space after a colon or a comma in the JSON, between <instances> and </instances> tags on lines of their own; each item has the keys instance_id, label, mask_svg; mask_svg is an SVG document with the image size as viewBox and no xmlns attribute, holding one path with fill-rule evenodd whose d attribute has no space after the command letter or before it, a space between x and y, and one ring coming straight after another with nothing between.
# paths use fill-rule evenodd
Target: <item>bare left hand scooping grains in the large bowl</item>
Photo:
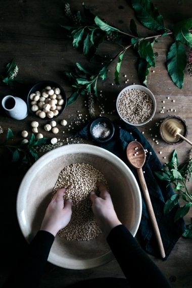
<instances>
[{"instance_id":1,"label":"bare left hand scooping grains in the large bowl","mask_svg":"<svg viewBox=\"0 0 192 288\"><path fill-rule=\"evenodd\" d=\"M54 195L46 209L40 230L48 231L56 236L57 232L65 228L71 220L72 200L69 199L64 203L65 191L65 188L59 189Z\"/></svg>"}]
</instances>

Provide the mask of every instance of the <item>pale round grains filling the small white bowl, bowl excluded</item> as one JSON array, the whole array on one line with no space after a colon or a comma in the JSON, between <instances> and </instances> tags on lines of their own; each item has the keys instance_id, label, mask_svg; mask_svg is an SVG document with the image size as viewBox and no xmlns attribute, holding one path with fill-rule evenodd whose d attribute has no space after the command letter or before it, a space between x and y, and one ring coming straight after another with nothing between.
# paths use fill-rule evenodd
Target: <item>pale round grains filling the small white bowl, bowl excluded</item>
<instances>
[{"instance_id":1,"label":"pale round grains filling the small white bowl, bowl excluded","mask_svg":"<svg viewBox=\"0 0 192 288\"><path fill-rule=\"evenodd\" d=\"M128 122L145 122L153 113L153 101L149 95L139 89L125 90L118 101L119 114Z\"/></svg>"}]
</instances>

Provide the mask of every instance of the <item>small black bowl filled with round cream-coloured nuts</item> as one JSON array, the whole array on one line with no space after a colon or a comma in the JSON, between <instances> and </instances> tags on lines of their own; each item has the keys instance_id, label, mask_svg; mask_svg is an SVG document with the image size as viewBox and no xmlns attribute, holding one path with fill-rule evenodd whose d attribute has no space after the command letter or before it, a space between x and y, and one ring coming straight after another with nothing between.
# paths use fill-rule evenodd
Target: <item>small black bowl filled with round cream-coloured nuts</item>
<instances>
[{"instance_id":1,"label":"small black bowl filled with round cream-coloured nuts","mask_svg":"<svg viewBox=\"0 0 192 288\"><path fill-rule=\"evenodd\" d=\"M67 98L64 89L54 81L36 83L27 96L28 110L44 120L58 117L65 109Z\"/></svg>"}]
</instances>

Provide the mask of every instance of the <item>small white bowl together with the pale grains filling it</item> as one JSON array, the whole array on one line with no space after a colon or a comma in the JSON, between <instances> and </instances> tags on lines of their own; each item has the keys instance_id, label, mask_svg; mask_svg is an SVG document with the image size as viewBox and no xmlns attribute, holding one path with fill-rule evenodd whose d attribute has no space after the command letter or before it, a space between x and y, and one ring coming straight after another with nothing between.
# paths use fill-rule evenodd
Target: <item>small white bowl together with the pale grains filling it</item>
<instances>
[{"instance_id":1,"label":"small white bowl together with the pale grains filling it","mask_svg":"<svg viewBox=\"0 0 192 288\"><path fill-rule=\"evenodd\" d=\"M119 93L116 108L119 117L124 122L141 126L154 117L156 100L154 94L147 87L129 85Z\"/></svg>"}]
</instances>

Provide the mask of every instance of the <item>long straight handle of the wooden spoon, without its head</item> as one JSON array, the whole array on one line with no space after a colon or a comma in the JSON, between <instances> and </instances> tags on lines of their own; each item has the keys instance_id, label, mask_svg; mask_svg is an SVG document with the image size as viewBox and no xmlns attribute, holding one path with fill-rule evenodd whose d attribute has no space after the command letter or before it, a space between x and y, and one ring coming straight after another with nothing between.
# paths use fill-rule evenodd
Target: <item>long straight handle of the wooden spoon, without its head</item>
<instances>
[{"instance_id":1,"label":"long straight handle of the wooden spoon, without its head","mask_svg":"<svg viewBox=\"0 0 192 288\"><path fill-rule=\"evenodd\" d=\"M161 234L160 234L160 231L159 231L159 227L158 227L157 220L156 220L156 217L155 217L155 213L154 213L154 210L153 210L153 206L152 206L152 203L151 203L149 191L148 191L148 188L147 188L147 185L146 185L146 180L145 180L143 172L142 172L142 168L138 168L137 172L138 172L139 181L140 181L140 184L141 184L141 187L142 187L143 195L144 195L145 200L146 200L146 205L148 207L148 212L149 212L149 215L150 215L150 218L151 218L151 221L152 221L152 226L153 226L153 229L154 229L154 232L155 232L155 236L157 238L160 254L161 254L162 258L165 258L165 250L164 250L164 247L163 247Z\"/></svg>"}]
</instances>

